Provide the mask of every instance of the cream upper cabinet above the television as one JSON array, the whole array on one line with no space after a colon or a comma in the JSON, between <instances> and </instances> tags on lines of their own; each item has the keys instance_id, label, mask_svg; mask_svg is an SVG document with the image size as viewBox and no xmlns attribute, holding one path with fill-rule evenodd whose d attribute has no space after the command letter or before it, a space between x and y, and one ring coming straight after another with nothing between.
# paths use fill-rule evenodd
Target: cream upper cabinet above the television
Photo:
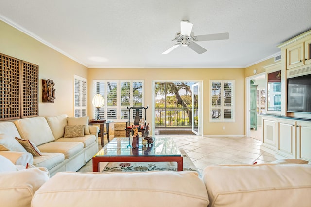
<instances>
[{"instance_id":1,"label":"cream upper cabinet above the television","mask_svg":"<svg viewBox=\"0 0 311 207\"><path fill-rule=\"evenodd\" d=\"M311 63L311 37L293 47L286 49L286 68L289 70L294 67Z\"/></svg>"}]
</instances>

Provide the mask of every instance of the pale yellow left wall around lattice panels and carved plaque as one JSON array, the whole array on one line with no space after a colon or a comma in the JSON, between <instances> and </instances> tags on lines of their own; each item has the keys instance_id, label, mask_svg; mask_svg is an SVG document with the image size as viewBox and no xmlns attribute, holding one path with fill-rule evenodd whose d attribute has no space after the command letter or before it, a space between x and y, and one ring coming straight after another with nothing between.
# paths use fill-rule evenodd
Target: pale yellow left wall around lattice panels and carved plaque
<instances>
[{"instance_id":1,"label":"pale yellow left wall around lattice panels and carved plaque","mask_svg":"<svg viewBox=\"0 0 311 207\"><path fill-rule=\"evenodd\" d=\"M0 21L0 53L39 65L39 116L73 116L73 74L87 79L87 68ZM42 103L42 80L55 82L54 103Z\"/></svg>"}]
</instances>

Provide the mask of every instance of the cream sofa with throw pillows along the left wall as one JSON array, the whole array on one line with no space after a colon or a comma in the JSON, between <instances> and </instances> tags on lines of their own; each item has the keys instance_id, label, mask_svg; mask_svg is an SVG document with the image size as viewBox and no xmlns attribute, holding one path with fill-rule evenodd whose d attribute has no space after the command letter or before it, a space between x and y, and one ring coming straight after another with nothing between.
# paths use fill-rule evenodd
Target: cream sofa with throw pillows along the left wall
<instances>
[{"instance_id":1,"label":"cream sofa with throw pillows along the left wall","mask_svg":"<svg viewBox=\"0 0 311 207\"><path fill-rule=\"evenodd\" d=\"M0 122L0 155L16 165L46 167L50 176L77 171L98 152L98 131L97 126L88 126L88 117L67 115ZM70 138L64 138L64 134ZM27 152L16 137L26 140L22 143L31 141L32 153L39 151L41 156Z\"/></svg>"}]
</instances>

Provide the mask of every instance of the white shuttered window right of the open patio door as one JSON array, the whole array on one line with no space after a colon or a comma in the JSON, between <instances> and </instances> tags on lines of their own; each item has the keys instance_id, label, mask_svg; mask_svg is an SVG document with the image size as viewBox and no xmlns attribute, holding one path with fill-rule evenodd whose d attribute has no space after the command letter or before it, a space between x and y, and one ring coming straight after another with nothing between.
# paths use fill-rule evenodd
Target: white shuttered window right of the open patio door
<instances>
[{"instance_id":1,"label":"white shuttered window right of the open patio door","mask_svg":"<svg viewBox=\"0 0 311 207\"><path fill-rule=\"evenodd\" d=\"M234 80L210 80L210 121L234 122Z\"/></svg>"}]
</instances>

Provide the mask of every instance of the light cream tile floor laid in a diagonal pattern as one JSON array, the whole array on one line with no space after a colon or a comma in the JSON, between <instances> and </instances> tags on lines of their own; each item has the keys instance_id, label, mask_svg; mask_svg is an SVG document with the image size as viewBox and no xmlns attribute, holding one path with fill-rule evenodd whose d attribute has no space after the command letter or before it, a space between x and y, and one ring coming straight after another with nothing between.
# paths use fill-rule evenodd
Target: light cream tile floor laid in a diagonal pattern
<instances>
[{"instance_id":1,"label":"light cream tile floor laid in a diagonal pattern","mask_svg":"<svg viewBox=\"0 0 311 207\"><path fill-rule=\"evenodd\" d=\"M276 160L272 154L260 150L261 141L251 137L171 137L180 149L186 151L200 173L208 165L260 164ZM110 140L112 139L113 136L110 136ZM104 144L106 143L108 141L105 136Z\"/></svg>"}]
</instances>

